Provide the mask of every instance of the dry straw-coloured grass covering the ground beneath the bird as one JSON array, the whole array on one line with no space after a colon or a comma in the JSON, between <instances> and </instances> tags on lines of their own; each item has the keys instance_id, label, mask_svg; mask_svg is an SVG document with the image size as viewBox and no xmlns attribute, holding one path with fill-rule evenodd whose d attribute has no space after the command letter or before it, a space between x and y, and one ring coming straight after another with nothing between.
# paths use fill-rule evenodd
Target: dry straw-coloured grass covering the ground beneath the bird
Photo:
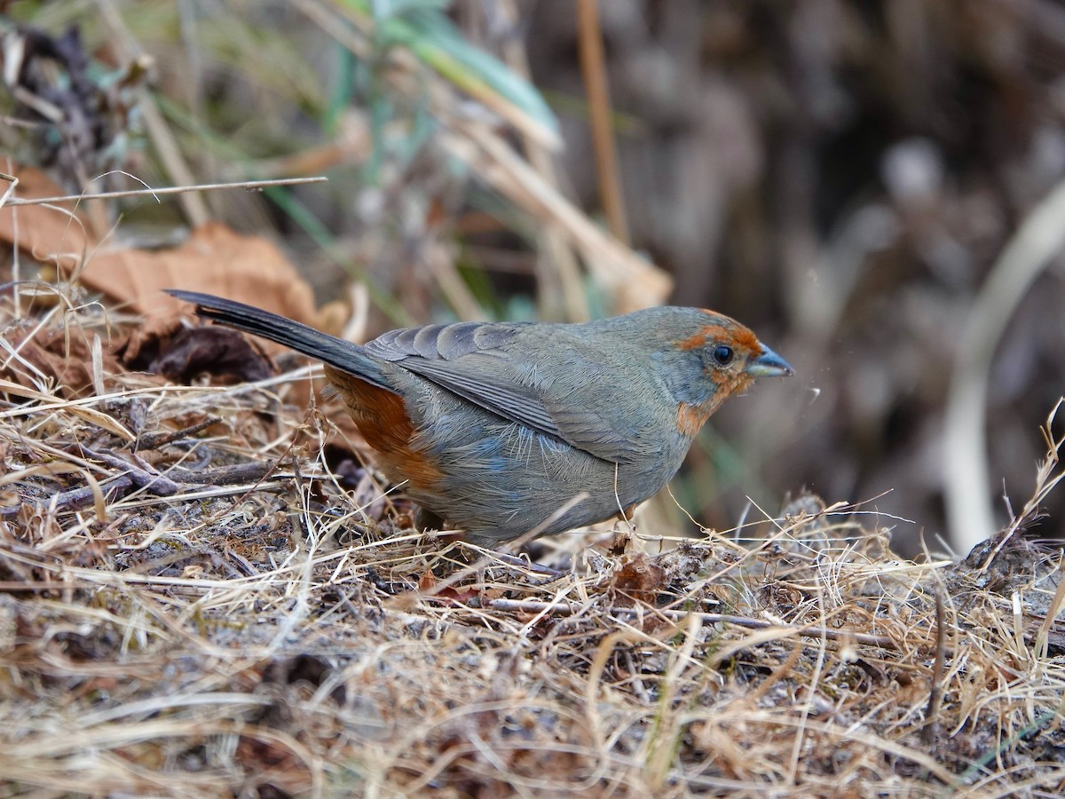
<instances>
[{"instance_id":1,"label":"dry straw-coloured grass covering the ground beneath the bird","mask_svg":"<svg viewBox=\"0 0 1065 799\"><path fill-rule=\"evenodd\" d=\"M806 498L760 539L537 542L555 577L415 533L371 471L344 490L328 417L284 403L306 370L95 374L79 399L24 349L0 386L2 796L1065 785L1061 551L1025 519L908 562L882 518Z\"/></svg>"}]
</instances>

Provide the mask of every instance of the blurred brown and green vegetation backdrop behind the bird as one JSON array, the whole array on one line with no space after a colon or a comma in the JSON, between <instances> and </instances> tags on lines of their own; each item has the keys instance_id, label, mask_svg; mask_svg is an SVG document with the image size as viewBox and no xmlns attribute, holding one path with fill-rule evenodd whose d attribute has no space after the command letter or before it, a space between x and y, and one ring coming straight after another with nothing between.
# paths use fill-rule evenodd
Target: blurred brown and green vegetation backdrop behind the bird
<instances>
[{"instance_id":1,"label":"blurred brown and green vegetation backdrop behind the bird","mask_svg":"<svg viewBox=\"0 0 1065 799\"><path fill-rule=\"evenodd\" d=\"M329 178L113 200L96 224L116 242L164 246L209 219L266 237L362 337L662 301L748 324L798 376L711 420L673 483L701 524L809 490L882 513L913 555L921 536L943 548L953 490L964 554L1032 494L1065 393L1063 3L0 11L0 148L68 191L135 187L114 169L154 186ZM1026 225L1043 250L1003 258ZM1063 499L1043 505L1032 532L1055 536Z\"/></svg>"}]
</instances>

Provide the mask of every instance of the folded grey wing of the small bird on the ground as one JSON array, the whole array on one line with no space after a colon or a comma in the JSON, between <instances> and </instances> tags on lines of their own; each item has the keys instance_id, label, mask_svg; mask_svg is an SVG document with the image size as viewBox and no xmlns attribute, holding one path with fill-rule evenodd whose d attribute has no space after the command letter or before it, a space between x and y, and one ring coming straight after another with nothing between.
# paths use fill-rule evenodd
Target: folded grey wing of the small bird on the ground
<instances>
[{"instance_id":1,"label":"folded grey wing of the small bird on the ground","mask_svg":"<svg viewBox=\"0 0 1065 799\"><path fill-rule=\"evenodd\" d=\"M589 387L601 396L606 393L608 368L564 332L568 328L553 328L545 342L529 337L531 328L521 323L426 325L393 330L366 349L485 410L597 458L632 460L634 431L595 403L575 402L587 398Z\"/></svg>"}]
</instances>

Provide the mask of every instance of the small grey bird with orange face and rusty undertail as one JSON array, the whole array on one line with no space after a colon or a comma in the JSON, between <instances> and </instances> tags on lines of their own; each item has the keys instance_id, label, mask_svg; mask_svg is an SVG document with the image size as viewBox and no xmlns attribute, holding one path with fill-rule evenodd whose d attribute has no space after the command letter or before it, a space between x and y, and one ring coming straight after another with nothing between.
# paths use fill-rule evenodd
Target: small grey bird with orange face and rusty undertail
<instances>
[{"instance_id":1,"label":"small grey bird with orange face and rusty undertail","mask_svg":"<svg viewBox=\"0 0 1065 799\"><path fill-rule=\"evenodd\" d=\"M630 518L727 397L794 374L749 328L699 308L430 324L359 345L243 303L167 293L322 361L381 472L486 548Z\"/></svg>"}]
</instances>

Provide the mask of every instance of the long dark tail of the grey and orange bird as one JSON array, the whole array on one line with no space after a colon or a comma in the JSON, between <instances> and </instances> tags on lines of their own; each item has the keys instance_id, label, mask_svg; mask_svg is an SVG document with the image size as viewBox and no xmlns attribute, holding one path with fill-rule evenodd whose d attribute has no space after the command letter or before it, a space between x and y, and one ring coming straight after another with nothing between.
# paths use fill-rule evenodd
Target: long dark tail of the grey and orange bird
<instances>
[{"instance_id":1,"label":"long dark tail of the grey and orange bird","mask_svg":"<svg viewBox=\"0 0 1065 799\"><path fill-rule=\"evenodd\" d=\"M244 332L284 344L311 358L325 361L342 372L392 391L379 363L358 344L329 336L291 319L255 308L244 303L224 299L212 294L167 289L173 297L196 306L196 315L234 327Z\"/></svg>"}]
</instances>

